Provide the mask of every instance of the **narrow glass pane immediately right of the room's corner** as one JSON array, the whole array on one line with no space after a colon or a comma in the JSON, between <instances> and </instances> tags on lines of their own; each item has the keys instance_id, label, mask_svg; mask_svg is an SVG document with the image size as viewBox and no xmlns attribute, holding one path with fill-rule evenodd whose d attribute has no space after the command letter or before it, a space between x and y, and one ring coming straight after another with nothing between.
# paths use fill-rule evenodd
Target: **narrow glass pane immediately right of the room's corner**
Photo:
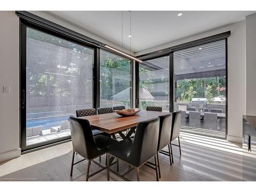
<instances>
[{"instance_id":1,"label":"narrow glass pane immediately right of the room's corner","mask_svg":"<svg viewBox=\"0 0 256 192\"><path fill-rule=\"evenodd\" d=\"M139 108L161 106L169 112L169 55L139 63Z\"/></svg>"}]
</instances>

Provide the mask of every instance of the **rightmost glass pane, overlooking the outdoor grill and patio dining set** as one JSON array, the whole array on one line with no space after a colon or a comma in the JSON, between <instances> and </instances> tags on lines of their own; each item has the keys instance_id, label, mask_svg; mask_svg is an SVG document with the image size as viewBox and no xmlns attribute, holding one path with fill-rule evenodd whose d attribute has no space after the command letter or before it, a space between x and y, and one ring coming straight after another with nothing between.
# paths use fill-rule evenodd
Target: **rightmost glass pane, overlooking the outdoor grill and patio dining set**
<instances>
[{"instance_id":1,"label":"rightmost glass pane, overlooking the outdoor grill and patio dining set","mask_svg":"<svg viewBox=\"0 0 256 192\"><path fill-rule=\"evenodd\" d=\"M174 52L174 110L182 131L226 137L226 39Z\"/></svg>"}]
</instances>

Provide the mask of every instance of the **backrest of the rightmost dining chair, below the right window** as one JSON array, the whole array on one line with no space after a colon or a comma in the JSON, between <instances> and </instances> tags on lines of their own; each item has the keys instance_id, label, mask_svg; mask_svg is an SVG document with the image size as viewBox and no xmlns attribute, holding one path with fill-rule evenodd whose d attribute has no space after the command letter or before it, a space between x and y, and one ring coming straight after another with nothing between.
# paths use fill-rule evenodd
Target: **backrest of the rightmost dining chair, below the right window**
<instances>
[{"instance_id":1,"label":"backrest of the rightmost dining chair, below the right window","mask_svg":"<svg viewBox=\"0 0 256 192\"><path fill-rule=\"evenodd\" d=\"M170 132L170 141L173 141L180 136L180 124L181 124L181 111L175 111L172 113L172 131Z\"/></svg>"}]
</instances>

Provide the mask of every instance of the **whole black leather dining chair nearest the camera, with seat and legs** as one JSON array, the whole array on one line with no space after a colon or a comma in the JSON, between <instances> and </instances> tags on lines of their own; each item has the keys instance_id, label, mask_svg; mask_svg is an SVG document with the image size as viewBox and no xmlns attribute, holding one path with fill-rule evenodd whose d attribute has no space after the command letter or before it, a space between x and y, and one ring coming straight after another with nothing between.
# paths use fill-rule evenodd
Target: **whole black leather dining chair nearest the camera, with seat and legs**
<instances>
[{"instance_id":1,"label":"whole black leather dining chair nearest the camera, with seat and legs","mask_svg":"<svg viewBox=\"0 0 256 192\"><path fill-rule=\"evenodd\" d=\"M137 180L139 181L139 167L145 164L152 157L155 158L155 164L157 165L157 144L159 134L159 118L154 118L146 121L142 121L137 125L137 131L134 139L124 139L118 143L110 145L108 148L108 181L110 178L110 172L121 177L125 181L129 181L124 176L130 173L134 168L137 172ZM133 168L128 170L123 175L120 175L109 166L110 156L114 156L120 159ZM156 177L158 178L157 166Z\"/></svg>"}]
</instances>

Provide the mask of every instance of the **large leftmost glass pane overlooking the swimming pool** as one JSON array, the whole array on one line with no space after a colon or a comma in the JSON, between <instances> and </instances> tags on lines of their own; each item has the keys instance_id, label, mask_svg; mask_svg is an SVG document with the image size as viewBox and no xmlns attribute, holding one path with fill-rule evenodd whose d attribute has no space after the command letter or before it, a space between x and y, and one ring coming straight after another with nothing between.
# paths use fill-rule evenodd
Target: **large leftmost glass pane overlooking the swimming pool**
<instances>
[{"instance_id":1,"label":"large leftmost glass pane overlooking the swimming pool","mask_svg":"<svg viewBox=\"0 0 256 192\"><path fill-rule=\"evenodd\" d=\"M94 49L26 25L22 38L26 150L70 138L69 116L93 107Z\"/></svg>"}]
</instances>

